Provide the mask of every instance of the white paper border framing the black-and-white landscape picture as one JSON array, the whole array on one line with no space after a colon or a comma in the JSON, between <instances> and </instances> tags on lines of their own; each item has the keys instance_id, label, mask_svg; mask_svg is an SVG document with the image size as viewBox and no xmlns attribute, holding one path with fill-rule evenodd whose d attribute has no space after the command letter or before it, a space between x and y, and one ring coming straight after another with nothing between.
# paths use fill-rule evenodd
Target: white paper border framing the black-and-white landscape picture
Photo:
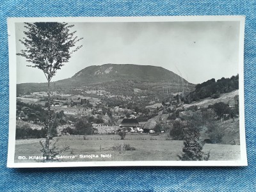
<instances>
[{"instance_id":1,"label":"white paper border framing the black-and-white landscape picture","mask_svg":"<svg viewBox=\"0 0 256 192\"><path fill-rule=\"evenodd\" d=\"M239 31L239 134L241 159L236 161L90 161L68 163L15 163L16 129L16 44L17 22L193 22L193 21L237 21ZM244 24L245 16L166 16L166 17L22 17L8 18L9 45L9 168L79 167L79 166L247 166L246 137L244 124Z\"/></svg>"}]
</instances>

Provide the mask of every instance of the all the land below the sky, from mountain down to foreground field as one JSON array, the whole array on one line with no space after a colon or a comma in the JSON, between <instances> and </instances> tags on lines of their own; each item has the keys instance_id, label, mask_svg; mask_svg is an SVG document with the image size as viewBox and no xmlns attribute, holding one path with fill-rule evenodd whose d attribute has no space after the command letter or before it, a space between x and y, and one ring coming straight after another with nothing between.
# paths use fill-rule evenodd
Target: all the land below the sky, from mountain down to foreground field
<instances>
[{"instance_id":1,"label":"all the land below the sky, from mountain down to foreground field","mask_svg":"<svg viewBox=\"0 0 256 192\"><path fill-rule=\"evenodd\" d=\"M71 155L114 152L118 161L150 159L154 155L149 148L157 147L152 160L178 160L187 132L196 128L204 152L211 151L209 160L233 159L240 143L237 79L195 85L161 67L84 68L51 83L51 143L67 145L65 154ZM22 148L30 142L37 144L28 155L40 155L49 105L46 90L46 83L17 84L16 156L26 154Z\"/></svg>"}]
</instances>

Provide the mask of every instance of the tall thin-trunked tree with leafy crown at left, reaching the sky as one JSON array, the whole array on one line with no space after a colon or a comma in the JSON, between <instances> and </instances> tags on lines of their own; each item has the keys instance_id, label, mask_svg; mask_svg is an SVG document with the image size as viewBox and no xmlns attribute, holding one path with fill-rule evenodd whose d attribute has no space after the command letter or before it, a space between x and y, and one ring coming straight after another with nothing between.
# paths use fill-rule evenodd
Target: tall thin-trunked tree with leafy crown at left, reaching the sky
<instances>
[{"instance_id":1,"label":"tall thin-trunked tree with leafy crown at left, reaching the sky","mask_svg":"<svg viewBox=\"0 0 256 192\"><path fill-rule=\"evenodd\" d=\"M47 135L45 139L45 156L49 158L49 140L51 137L51 104L50 104L50 82L56 71L69 61L72 54L83 45L76 46L83 38L75 36L76 31L70 29L74 25L65 22L35 22L24 23L25 37L19 40L24 45L19 56L26 58L31 63L28 67L39 68L44 72L48 83L48 120L46 124Z\"/></svg>"}]
</instances>

